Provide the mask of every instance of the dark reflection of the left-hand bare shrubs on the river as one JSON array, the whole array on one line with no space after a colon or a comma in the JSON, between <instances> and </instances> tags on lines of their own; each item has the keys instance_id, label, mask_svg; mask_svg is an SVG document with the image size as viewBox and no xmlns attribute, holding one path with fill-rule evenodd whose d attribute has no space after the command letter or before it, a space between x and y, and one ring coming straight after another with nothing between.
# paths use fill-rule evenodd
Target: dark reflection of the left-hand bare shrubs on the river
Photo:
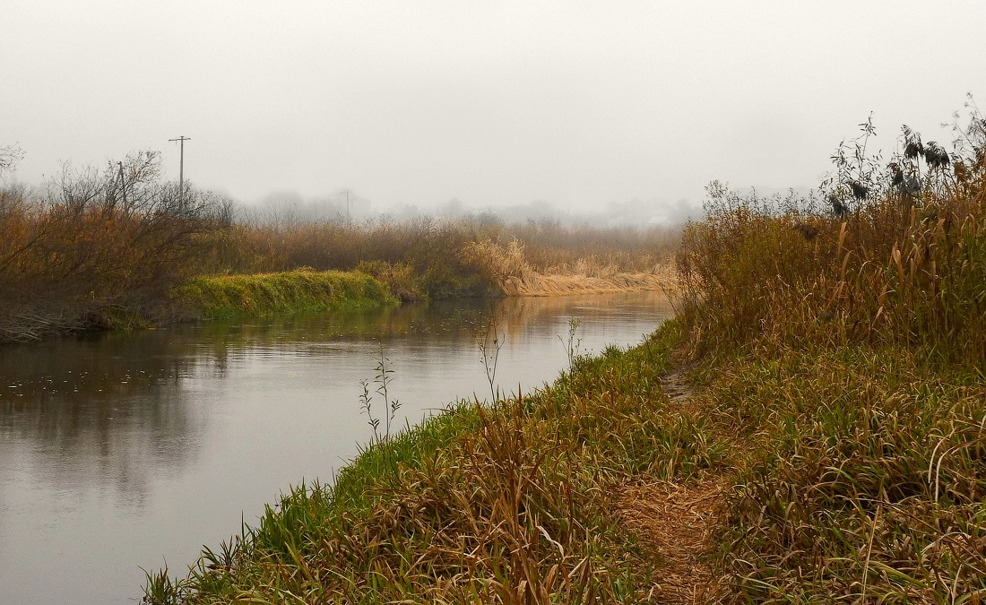
<instances>
[{"instance_id":1,"label":"dark reflection of the left-hand bare shrubs on the river","mask_svg":"<svg viewBox=\"0 0 986 605\"><path fill-rule=\"evenodd\" d=\"M0 455L32 445L36 480L61 491L94 481L140 505L151 467L180 466L202 425L180 396L193 360L113 335L0 349Z\"/></svg>"}]
</instances>

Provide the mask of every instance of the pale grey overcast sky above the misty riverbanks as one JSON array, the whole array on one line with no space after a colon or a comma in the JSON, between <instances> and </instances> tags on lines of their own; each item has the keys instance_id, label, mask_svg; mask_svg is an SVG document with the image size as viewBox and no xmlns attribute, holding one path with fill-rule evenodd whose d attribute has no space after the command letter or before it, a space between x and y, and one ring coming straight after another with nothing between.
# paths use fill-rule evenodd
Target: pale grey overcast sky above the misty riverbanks
<instances>
[{"instance_id":1,"label":"pale grey overcast sky above the misty riverbanks","mask_svg":"<svg viewBox=\"0 0 986 605\"><path fill-rule=\"evenodd\" d=\"M565 210L814 186L874 111L986 106L986 2L3 0L17 177L158 149L253 201ZM950 146L951 149L951 146ZM656 202L656 206L658 203Z\"/></svg>"}]
</instances>

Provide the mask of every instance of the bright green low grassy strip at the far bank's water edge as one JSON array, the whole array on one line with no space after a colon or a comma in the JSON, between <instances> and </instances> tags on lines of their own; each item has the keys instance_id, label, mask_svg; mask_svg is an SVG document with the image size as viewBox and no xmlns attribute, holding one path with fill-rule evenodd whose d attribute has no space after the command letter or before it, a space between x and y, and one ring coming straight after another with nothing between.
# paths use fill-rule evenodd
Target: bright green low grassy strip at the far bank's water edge
<instances>
[{"instance_id":1,"label":"bright green low grassy strip at the far bank's water edge","mask_svg":"<svg viewBox=\"0 0 986 605\"><path fill-rule=\"evenodd\" d=\"M298 270L197 277L176 288L172 302L194 316L218 319L397 301L386 286L365 273Z\"/></svg>"}]
</instances>

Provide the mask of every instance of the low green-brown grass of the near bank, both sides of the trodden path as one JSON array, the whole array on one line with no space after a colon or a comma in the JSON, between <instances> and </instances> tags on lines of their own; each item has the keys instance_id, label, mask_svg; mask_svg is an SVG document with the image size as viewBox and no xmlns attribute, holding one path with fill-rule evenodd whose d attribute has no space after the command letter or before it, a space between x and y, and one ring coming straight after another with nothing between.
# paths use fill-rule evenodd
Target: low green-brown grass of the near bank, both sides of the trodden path
<instances>
[{"instance_id":1,"label":"low green-brown grass of the near bank, both sides of the trodden path","mask_svg":"<svg viewBox=\"0 0 986 605\"><path fill-rule=\"evenodd\" d=\"M751 231L762 238L764 227ZM770 312L771 296L803 296L760 285L757 312ZM963 353L977 351L962 345L968 333L956 331L951 350L941 336L853 338L836 329L852 316L832 314L842 336L811 337L790 313L731 338L737 307L697 310L641 346L579 362L541 392L492 410L461 404L371 447L334 489L297 489L236 547L207 551L177 586L159 576L149 593L158 602L643 602L671 570L662 546L676 536L662 544L629 522L626 496L713 482L733 487L720 514L705 517L713 537L700 559L719 586L706 600L977 602L986 387L981 364ZM675 350L696 348L696 390L681 405L663 376ZM710 579L675 581L699 589Z\"/></svg>"}]
</instances>

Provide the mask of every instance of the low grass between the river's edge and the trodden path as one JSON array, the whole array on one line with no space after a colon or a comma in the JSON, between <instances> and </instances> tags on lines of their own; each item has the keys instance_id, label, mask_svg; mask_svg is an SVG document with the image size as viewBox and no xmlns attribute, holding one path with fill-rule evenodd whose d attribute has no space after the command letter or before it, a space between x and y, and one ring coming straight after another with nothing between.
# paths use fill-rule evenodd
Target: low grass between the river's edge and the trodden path
<instances>
[{"instance_id":1,"label":"low grass between the river's edge and the trodden path","mask_svg":"<svg viewBox=\"0 0 986 605\"><path fill-rule=\"evenodd\" d=\"M656 553L614 504L642 481L685 482L726 444L662 390L673 325L581 360L543 391L468 403L297 489L238 548L207 553L178 588L192 602L401 599L636 601ZM165 598L160 580L152 588Z\"/></svg>"}]
</instances>

